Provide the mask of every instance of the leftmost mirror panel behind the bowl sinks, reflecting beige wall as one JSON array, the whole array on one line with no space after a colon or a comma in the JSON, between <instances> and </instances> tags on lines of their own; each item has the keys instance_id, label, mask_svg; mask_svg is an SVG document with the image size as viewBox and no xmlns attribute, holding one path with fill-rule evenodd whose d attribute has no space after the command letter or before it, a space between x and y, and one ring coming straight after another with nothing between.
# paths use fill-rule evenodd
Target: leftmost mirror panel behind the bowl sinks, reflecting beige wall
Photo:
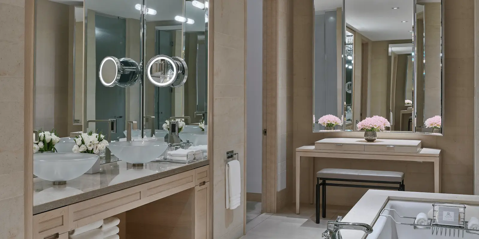
<instances>
[{"instance_id":1,"label":"leftmost mirror panel behind the bowl sinks, reflecting beige wall","mask_svg":"<svg viewBox=\"0 0 479 239\"><path fill-rule=\"evenodd\" d=\"M35 0L34 130L48 131L57 152L71 152L70 134L84 123L83 2L68 3ZM37 143L34 151L54 149Z\"/></svg>"}]
</instances>

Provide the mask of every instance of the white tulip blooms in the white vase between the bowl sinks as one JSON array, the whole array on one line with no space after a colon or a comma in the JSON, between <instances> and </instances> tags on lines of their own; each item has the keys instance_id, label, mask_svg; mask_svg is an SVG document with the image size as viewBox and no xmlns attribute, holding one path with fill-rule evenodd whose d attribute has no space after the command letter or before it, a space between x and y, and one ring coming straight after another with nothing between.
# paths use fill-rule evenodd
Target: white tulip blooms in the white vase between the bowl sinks
<instances>
[{"instance_id":1,"label":"white tulip blooms in the white vase between the bowl sinks","mask_svg":"<svg viewBox=\"0 0 479 239\"><path fill-rule=\"evenodd\" d=\"M93 131L81 133L81 135L75 139L75 143L71 151L82 153L99 153L109 145L101 132L97 134L93 133Z\"/></svg>"}]
</instances>

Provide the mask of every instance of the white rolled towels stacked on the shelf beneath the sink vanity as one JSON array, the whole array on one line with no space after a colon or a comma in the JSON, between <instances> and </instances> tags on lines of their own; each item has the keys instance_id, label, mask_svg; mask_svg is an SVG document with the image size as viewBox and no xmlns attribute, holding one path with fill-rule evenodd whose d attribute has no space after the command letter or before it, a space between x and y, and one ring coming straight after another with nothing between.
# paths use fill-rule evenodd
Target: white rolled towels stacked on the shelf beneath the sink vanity
<instances>
[{"instance_id":1,"label":"white rolled towels stacked on the shelf beneath the sink vanity","mask_svg":"<svg viewBox=\"0 0 479 239\"><path fill-rule=\"evenodd\" d=\"M120 224L120 219L108 217L70 231L68 239L119 239L120 228L118 228L118 224Z\"/></svg>"}]
</instances>

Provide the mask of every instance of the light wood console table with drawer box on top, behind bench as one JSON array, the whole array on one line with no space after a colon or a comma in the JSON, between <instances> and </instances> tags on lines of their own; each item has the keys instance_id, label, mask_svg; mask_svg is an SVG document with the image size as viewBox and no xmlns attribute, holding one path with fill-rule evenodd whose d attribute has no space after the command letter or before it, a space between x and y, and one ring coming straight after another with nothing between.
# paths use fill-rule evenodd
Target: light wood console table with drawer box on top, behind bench
<instances>
[{"instance_id":1,"label":"light wood console table with drawer box on top, behind bench","mask_svg":"<svg viewBox=\"0 0 479 239\"><path fill-rule=\"evenodd\" d=\"M301 157L372 159L434 163L434 192L441 190L441 150L421 148L421 141L382 140L366 142L364 139L331 138L317 141L315 145L296 149L296 214L299 214ZM314 162L314 161L313 161ZM310 172L310 203L314 201L315 169Z\"/></svg>"}]
</instances>

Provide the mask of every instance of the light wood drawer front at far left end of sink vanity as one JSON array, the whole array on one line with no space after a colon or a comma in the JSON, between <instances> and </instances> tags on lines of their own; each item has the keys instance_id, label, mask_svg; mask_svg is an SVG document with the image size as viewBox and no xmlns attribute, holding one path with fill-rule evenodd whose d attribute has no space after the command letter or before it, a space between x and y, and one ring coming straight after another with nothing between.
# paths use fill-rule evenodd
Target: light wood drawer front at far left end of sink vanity
<instances>
[{"instance_id":1,"label":"light wood drawer front at far left end of sink vanity","mask_svg":"<svg viewBox=\"0 0 479 239\"><path fill-rule=\"evenodd\" d=\"M33 228L34 239L68 232L68 206L34 215Z\"/></svg>"}]
</instances>

